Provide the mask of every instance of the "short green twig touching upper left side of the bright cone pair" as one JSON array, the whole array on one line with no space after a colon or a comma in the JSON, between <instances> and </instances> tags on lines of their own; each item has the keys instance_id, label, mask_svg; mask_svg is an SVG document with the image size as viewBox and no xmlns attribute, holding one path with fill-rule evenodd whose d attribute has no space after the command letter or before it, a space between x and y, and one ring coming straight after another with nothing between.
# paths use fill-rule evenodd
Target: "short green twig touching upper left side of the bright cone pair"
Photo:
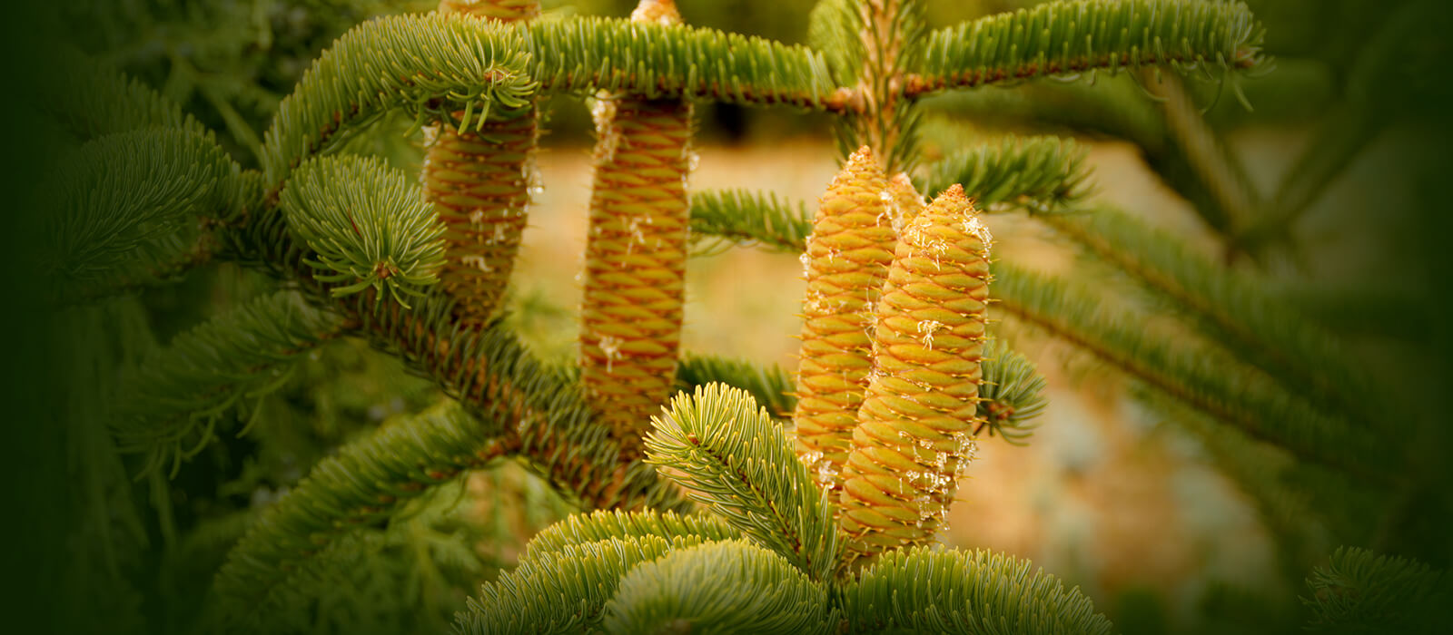
<instances>
[{"instance_id":1,"label":"short green twig touching upper left side of the bright cone pair","mask_svg":"<svg viewBox=\"0 0 1453 635\"><path fill-rule=\"evenodd\" d=\"M757 244L770 251L801 252L812 233L812 215L802 202L750 190L692 194L692 235Z\"/></svg>"}]
</instances>

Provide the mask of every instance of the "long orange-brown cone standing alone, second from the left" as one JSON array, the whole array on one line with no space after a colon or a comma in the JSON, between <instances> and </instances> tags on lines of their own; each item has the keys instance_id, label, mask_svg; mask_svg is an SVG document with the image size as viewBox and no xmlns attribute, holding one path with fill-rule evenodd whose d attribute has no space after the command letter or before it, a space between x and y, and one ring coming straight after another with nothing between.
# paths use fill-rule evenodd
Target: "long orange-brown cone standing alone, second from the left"
<instances>
[{"instance_id":1,"label":"long orange-brown cone standing alone, second from the left","mask_svg":"<svg viewBox=\"0 0 1453 635\"><path fill-rule=\"evenodd\" d=\"M679 25L671 0L636 22ZM586 239L581 381L622 449L638 455L674 391L690 225L692 104L600 96Z\"/></svg>"}]
</instances>

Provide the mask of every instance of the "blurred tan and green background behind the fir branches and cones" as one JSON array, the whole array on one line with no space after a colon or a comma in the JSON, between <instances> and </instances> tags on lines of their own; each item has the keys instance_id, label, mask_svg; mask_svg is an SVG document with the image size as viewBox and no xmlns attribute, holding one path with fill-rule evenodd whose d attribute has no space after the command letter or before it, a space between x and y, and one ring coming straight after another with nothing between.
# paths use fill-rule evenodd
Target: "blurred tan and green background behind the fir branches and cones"
<instances>
[{"instance_id":1,"label":"blurred tan and green background behind the fir branches and cones","mask_svg":"<svg viewBox=\"0 0 1453 635\"><path fill-rule=\"evenodd\" d=\"M376 14L433 4L90 0L67 3L61 13L73 43L186 104L244 167L254 167L260 132L279 100L333 38ZM625 0L545 4L551 14L626 16L634 7ZM805 39L812 4L679 0L690 25L785 42ZM1027 4L1035 3L928 1L928 23L947 26ZM1194 77L1101 74L934 97L924 148L936 157L1010 133L1074 138L1088 148L1093 167L1087 207L1122 209L1226 267L1268 277L1308 315L1344 333L1369 364L1396 374L1391 383L1409 399L1437 393L1443 375L1427 368L1441 368L1428 358L1444 349L1437 326L1446 322L1430 297L1441 290L1436 264L1447 220L1434 212L1444 177L1424 158L1438 152L1428 130L1441 126L1447 104L1434 72L1449 58L1437 32L1443 22L1424 19L1427 3L1411 0L1248 4L1276 58L1268 72L1231 78L1223 88ZM697 120L696 188L747 187L812 204L837 170L825 116L703 104ZM1191 132L1186 120L1197 122ZM408 123L381 122L349 151L417 170L420 144L405 136ZM574 355L593 138L577 100L556 99L545 129L538 157L545 190L530 212L510 319L541 357L565 362ZM1207 157L1215 165L1206 165ZM1257 236L1228 229L1226 217L1264 210L1286 217ZM997 258L1087 280L1106 289L1107 303L1154 312L1144 299L1101 284L1114 274L1023 213L992 215L988 225ZM697 251L689 265L684 349L795 368L804 290L798 258L711 244ZM257 274L216 265L118 312L164 342L263 289ZM1228 593L1277 599L1267 603L1271 612L1295 606L1305 590L1279 568L1276 538L1193 436L1072 346L1010 320L995 329L1037 362L1049 380L1049 407L1027 445L979 444L942 536L946 544L1030 558L1084 589L1126 634L1218 631L1225 625L1216 622L1216 597ZM116 615L137 610L185 623L186 602L155 597L187 597L195 593L189 587L205 587L225 545L246 526L234 509L264 505L330 448L436 397L385 355L337 342L259 400L248 435L224 435L160 486L169 491L128 487L125 467L109 468L121 484L97 496L110 503L126 497L134 525L110 538L121 545L112 551L122 554L122 568L166 574L141 576L151 590L97 602L116 605ZM464 593L509 567L533 531L568 513L513 467L477 474L456 490L418 503L407 523L360 536L372 541L376 557L336 567L350 576L334 580L339 597L328 602L350 609L320 607L317 626L427 631L448 623ZM171 544L169 531L179 526L202 531ZM474 548L461 552L459 536ZM157 541L167 548L145 548ZM401 578L408 580L408 602L426 616L389 613L398 599L385 597ZM158 589L161 596L151 593Z\"/></svg>"}]
</instances>

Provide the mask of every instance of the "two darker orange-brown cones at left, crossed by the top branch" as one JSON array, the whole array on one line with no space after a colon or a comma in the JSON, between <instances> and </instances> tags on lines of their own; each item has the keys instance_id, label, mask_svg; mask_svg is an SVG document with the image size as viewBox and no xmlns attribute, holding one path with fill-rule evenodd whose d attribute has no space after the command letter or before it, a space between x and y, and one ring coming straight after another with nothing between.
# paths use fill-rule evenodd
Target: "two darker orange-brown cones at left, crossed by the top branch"
<instances>
[{"instance_id":1,"label":"two darker orange-brown cones at left, crossed by the top branch","mask_svg":"<svg viewBox=\"0 0 1453 635\"><path fill-rule=\"evenodd\" d=\"M443 13L498 22L539 16L538 0L442 0ZM671 0L642 0L642 23L681 22ZM651 415L674 389L690 216L692 106L684 100L596 100L599 142L586 245L581 381L590 403L635 457ZM533 106L494 109L479 132L440 126L424 186L448 228L445 290L469 325L500 310L526 225Z\"/></svg>"}]
</instances>

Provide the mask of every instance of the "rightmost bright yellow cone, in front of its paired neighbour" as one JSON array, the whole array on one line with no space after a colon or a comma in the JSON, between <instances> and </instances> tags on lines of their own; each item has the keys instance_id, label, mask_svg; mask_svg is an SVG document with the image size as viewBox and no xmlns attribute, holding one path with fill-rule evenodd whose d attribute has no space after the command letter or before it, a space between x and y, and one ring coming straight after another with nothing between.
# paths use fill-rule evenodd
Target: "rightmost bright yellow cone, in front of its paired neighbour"
<instances>
[{"instance_id":1,"label":"rightmost bright yellow cone, in front of its paired neighbour","mask_svg":"<svg viewBox=\"0 0 1453 635\"><path fill-rule=\"evenodd\" d=\"M959 186L899 235L840 496L856 557L928 541L972 458L989 241Z\"/></svg>"}]
</instances>

